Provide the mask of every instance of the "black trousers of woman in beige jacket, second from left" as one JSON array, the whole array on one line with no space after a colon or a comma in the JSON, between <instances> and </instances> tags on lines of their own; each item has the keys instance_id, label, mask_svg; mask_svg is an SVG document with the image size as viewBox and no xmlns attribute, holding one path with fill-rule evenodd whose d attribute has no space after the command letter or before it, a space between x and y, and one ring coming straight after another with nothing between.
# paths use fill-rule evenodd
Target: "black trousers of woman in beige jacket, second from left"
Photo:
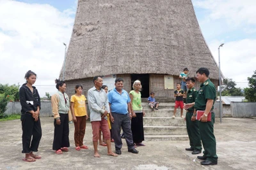
<instances>
[{"instance_id":1,"label":"black trousers of woman in beige jacket, second from left","mask_svg":"<svg viewBox=\"0 0 256 170\"><path fill-rule=\"evenodd\" d=\"M63 147L69 147L69 126L68 126L68 114L60 113L60 125L56 124L54 119L54 139L52 144L52 150L59 150Z\"/></svg>"}]
</instances>

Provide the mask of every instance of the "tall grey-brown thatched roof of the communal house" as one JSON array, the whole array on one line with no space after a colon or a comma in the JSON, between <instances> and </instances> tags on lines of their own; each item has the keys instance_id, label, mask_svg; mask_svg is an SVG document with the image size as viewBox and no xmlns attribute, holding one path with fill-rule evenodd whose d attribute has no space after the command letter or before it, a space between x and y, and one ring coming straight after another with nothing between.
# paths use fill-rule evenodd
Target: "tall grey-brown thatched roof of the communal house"
<instances>
[{"instance_id":1,"label":"tall grey-brown thatched roof of the communal house","mask_svg":"<svg viewBox=\"0 0 256 170\"><path fill-rule=\"evenodd\" d=\"M190 0L79 0L65 80L106 74L191 75L218 66ZM60 74L62 78L62 71Z\"/></svg>"}]
</instances>

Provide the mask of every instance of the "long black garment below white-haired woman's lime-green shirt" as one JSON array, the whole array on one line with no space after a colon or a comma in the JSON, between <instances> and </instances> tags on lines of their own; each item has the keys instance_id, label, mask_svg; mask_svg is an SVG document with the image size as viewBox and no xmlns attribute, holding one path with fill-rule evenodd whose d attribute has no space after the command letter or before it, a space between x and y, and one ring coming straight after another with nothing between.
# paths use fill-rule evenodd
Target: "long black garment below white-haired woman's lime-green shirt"
<instances>
[{"instance_id":1,"label":"long black garment below white-haired woman's lime-green shirt","mask_svg":"<svg viewBox=\"0 0 256 170\"><path fill-rule=\"evenodd\" d=\"M134 143L141 143L144 141L143 129L143 113L136 113L136 117L132 118L132 139Z\"/></svg>"}]
</instances>

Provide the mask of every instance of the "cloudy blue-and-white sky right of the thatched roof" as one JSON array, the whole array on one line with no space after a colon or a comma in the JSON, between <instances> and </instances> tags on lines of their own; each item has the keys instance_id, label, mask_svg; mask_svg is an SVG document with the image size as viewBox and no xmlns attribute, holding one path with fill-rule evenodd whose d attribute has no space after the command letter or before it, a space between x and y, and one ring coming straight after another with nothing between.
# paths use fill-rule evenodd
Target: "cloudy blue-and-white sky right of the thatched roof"
<instances>
[{"instance_id":1,"label":"cloudy blue-and-white sky right of the thatched roof","mask_svg":"<svg viewBox=\"0 0 256 170\"><path fill-rule=\"evenodd\" d=\"M193 0L198 13L198 22L218 62L220 48L221 71L232 78L237 87L248 87L247 77L255 71L256 61L256 13L254 0Z\"/></svg>"}]
</instances>

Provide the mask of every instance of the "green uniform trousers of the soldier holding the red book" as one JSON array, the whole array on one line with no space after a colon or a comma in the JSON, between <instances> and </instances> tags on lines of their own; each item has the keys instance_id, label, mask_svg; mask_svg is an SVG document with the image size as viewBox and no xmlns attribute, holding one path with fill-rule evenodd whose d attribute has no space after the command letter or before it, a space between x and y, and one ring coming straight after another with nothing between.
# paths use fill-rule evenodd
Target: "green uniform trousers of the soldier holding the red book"
<instances>
[{"instance_id":1,"label":"green uniform trousers of the soldier holding the red book","mask_svg":"<svg viewBox=\"0 0 256 170\"><path fill-rule=\"evenodd\" d=\"M212 112L211 122L198 121L199 131L204 146L204 157L207 160L217 160L216 155L216 139L213 133L213 125L215 122L215 114Z\"/></svg>"}]
</instances>

